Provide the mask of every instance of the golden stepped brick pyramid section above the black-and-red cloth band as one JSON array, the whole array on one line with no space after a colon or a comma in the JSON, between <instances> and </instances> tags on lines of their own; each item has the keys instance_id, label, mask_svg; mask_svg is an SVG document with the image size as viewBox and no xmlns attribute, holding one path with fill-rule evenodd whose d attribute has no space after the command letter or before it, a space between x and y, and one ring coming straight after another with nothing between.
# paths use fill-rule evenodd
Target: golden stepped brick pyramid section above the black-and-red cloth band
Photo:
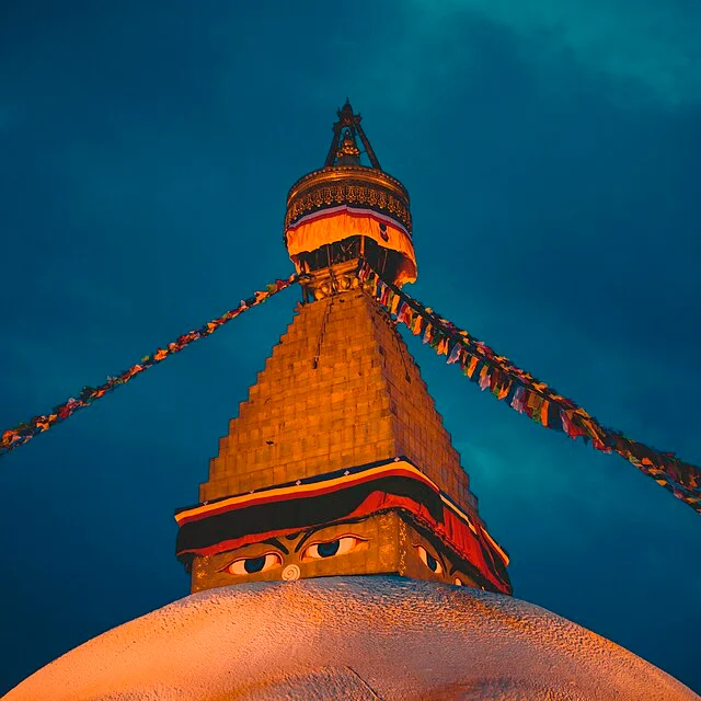
<instances>
[{"instance_id":1,"label":"golden stepped brick pyramid section above the black-and-red cloth band","mask_svg":"<svg viewBox=\"0 0 701 701\"><path fill-rule=\"evenodd\" d=\"M387 314L350 290L300 306L210 461L200 501L404 455L476 515L418 367Z\"/></svg>"}]
</instances>

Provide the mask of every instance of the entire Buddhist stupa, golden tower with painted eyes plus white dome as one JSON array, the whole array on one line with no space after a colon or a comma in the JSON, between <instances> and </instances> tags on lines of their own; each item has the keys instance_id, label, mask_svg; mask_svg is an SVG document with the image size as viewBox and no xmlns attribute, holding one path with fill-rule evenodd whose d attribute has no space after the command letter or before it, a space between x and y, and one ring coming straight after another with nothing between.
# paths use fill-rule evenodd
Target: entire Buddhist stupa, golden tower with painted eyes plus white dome
<instances>
[{"instance_id":1,"label":"entire Buddhist stupa, golden tower with painted eyes plus white dome","mask_svg":"<svg viewBox=\"0 0 701 701\"><path fill-rule=\"evenodd\" d=\"M360 162L360 148L369 165ZM346 102L290 189L302 303L179 509L192 594L7 701L692 701L664 671L515 599L450 436L365 261L416 278L409 195Z\"/></svg>"}]
</instances>

